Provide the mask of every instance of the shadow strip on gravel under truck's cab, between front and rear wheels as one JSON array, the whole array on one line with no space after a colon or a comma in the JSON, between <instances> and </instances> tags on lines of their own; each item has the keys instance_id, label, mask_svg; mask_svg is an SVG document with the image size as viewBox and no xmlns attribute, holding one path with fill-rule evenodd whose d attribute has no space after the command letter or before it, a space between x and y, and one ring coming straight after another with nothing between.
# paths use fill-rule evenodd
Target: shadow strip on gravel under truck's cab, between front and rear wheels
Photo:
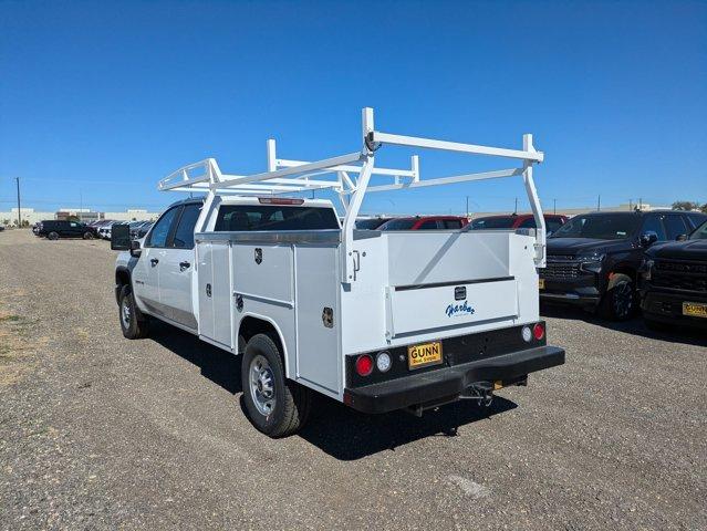
<instances>
[{"instance_id":1,"label":"shadow strip on gravel under truck's cab, between front and rear wheels","mask_svg":"<svg viewBox=\"0 0 707 531\"><path fill-rule=\"evenodd\" d=\"M201 369L201 375L232 394L241 392L240 356L235 356L168 324L152 322L149 337Z\"/></svg>"}]
</instances>

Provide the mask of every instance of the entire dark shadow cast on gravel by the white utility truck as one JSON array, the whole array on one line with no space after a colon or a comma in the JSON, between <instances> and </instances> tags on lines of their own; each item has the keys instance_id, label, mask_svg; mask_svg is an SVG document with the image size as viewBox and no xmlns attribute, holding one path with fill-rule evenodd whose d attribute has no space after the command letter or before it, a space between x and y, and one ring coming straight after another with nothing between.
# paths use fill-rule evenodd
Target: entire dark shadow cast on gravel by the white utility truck
<instances>
[{"instance_id":1,"label":"entire dark shadow cast on gravel by the white utility truck","mask_svg":"<svg viewBox=\"0 0 707 531\"><path fill-rule=\"evenodd\" d=\"M240 393L240 357L164 323L150 323L150 339L201 369L201 374L232 394ZM344 461L361 459L425 437L455 436L457 428L518 407L497 396L490 407L462 400L425 412L422 418L404 412L363 415L315 395L312 416L299 434L325 454ZM246 415L242 404L241 409ZM254 428L253 428L254 429ZM297 436L295 436L297 437Z\"/></svg>"}]
</instances>

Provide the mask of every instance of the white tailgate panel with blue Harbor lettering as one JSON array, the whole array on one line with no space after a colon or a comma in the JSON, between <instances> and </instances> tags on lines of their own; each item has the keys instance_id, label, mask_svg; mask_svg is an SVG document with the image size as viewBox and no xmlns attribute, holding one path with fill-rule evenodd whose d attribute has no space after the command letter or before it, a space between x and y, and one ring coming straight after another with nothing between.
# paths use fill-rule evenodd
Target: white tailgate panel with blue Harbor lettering
<instances>
[{"instance_id":1,"label":"white tailgate panel with blue Harbor lettering","mask_svg":"<svg viewBox=\"0 0 707 531\"><path fill-rule=\"evenodd\" d=\"M518 285L507 277L467 284L391 287L386 325L392 336L503 321L518 316Z\"/></svg>"}]
</instances>

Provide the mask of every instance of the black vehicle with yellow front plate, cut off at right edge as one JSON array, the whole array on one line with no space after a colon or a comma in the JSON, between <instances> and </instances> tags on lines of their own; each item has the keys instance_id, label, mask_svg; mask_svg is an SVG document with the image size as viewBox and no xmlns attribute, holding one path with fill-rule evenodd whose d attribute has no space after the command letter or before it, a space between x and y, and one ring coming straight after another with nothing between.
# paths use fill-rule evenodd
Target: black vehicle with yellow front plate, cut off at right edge
<instances>
[{"instance_id":1,"label":"black vehicle with yellow front plate, cut off at right edge","mask_svg":"<svg viewBox=\"0 0 707 531\"><path fill-rule=\"evenodd\" d=\"M648 249L641 284L648 327L673 323L707 330L707 222L685 241Z\"/></svg>"}]
</instances>

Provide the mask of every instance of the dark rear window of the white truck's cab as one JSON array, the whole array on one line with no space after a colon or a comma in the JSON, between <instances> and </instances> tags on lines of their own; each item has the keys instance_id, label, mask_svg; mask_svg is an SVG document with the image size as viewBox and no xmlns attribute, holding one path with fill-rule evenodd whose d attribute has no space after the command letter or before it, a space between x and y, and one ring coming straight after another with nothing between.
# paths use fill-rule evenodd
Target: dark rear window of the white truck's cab
<instances>
[{"instance_id":1,"label":"dark rear window of the white truck's cab","mask_svg":"<svg viewBox=\"0 0 707 531\"><path fill-rule=\"evenodd\" d=\"M339 229L331 208L282 205L223 205L218 210L216 231Z\"/></svg>"}]
</instances>

